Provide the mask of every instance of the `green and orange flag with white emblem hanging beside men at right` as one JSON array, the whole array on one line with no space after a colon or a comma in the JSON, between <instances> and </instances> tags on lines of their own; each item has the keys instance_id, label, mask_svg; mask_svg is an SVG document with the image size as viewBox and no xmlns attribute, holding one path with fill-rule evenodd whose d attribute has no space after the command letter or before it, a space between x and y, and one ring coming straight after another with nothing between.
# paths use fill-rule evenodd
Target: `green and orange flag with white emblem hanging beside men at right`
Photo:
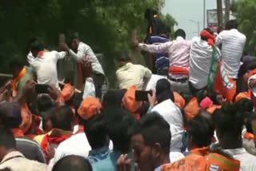
<instances>
[{"instance_id":1,"label":"green and orange flag with white emblem hanging beside men at right","mask_svg":"<svg viewBox=\"0 0 256 171\"><path fill-rule=\"evenodd\" d=\"M236 82L228 77L228 74L224 69L221 54L216 46L213 46L208 89L222 94L228 101L234 100L237 91Z\"/></svg>"}]
</instances>

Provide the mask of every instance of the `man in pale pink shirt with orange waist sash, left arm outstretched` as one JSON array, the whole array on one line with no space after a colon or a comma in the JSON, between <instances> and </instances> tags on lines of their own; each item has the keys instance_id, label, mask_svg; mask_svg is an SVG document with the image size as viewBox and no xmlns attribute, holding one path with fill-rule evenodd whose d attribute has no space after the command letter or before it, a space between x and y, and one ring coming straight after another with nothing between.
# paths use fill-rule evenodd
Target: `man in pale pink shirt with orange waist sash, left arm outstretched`
<instances>
[{"instance_id":1,"label":"man in pale pink shirt with orange waist sash, left arm outstretched","mask_svg":"<svg viewBox=\"0 0 256 171\"><path fill-rule=\"evenodd\" d=\"M190 93L188 85L190 46L191 41L185 40L184 30L175 32L173 42L166 42L158 45L146 45L140 43L138 47L150 53L168 53L170 58L170 82L172 90L180 93Z\"/></svg>"}]
</instances>

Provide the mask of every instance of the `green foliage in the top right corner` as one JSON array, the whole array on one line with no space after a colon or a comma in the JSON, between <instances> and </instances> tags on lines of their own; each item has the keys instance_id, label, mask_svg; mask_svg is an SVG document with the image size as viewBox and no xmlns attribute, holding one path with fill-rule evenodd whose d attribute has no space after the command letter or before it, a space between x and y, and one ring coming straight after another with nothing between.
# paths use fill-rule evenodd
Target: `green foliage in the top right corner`
<instances>
[{"instance_id":1,"label":"green foliage in the top right corner","mask_svg":"<svg viewBox=\"0 0 256 171\"><path fill-rule=\"evenodd\" d=\"M235 16L238 18L239 29L246 34L247 46L246 51L251 54L255 53L256 47L256 1L240 0L234 6Z\"/></svg>"}]
</instances>

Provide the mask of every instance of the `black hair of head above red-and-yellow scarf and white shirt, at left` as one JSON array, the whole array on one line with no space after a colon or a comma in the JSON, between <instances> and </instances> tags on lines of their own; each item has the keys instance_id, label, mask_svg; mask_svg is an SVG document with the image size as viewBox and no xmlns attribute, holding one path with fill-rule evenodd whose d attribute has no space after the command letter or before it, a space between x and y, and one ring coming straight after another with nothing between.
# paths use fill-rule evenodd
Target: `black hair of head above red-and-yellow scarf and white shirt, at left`
<instances>
[{"instance_id":1,"label":"black hair of head above red-and-yellow scarf and white shirt, at left","mask_svg":"<svg viewBox=\"0 0 256 171\"><path fill-rule=\"evenodd\" d=\"M55 129L71 130L74 114L69 106L58 106L55 107L53 113L51 113L50 121Z\"/></svg>"}]
</instances>

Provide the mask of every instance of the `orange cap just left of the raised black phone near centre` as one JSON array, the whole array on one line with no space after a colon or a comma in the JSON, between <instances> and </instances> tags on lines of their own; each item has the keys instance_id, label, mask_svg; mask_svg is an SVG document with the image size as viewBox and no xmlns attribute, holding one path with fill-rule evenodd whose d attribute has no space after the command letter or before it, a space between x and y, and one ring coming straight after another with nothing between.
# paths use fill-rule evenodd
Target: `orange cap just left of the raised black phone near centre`
<instances>
[{"instance_id":1,"label":"orange cap just left of the raised black phone near centre","mask_svg":"<svg viewBox=\"0 0 256 171\"><path fill-rule=\"evenodd\" d=\"M142 101L136 101L135 99L135 91L137 89L136 85L130 86L129 89L127 89L124 97L122 98L122 105L126 109L129 109L130 112L135 113L142 107Z\"/></svg>"}]
</instances>

